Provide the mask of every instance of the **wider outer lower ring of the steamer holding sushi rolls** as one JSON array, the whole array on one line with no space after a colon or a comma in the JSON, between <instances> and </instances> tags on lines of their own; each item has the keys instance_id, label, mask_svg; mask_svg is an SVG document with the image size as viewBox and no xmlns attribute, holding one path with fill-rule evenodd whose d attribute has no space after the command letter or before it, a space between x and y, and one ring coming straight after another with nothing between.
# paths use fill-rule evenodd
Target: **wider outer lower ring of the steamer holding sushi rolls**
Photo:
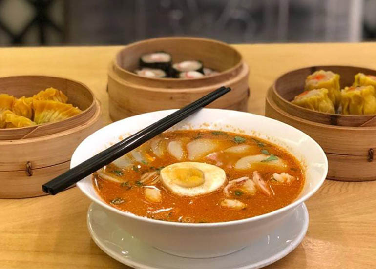
<instances>
[{"instance_id":1,"label":"wider outer lower ring of the steamer holding sushi rolls","mask_svg":"<svg viewBox=\"0 0 376 269\"><path fill-rule=\"evenodd\" d=\"M186 89L151 88L132 84L121 79L110 68L108 71L110 117L116 121L131 115L184 107L224 84L233 90L224 98L219 98L209 104L208 107L240 107L240 111L246 111L249 96L247 79L249 69L246 64L243 64L242 67L237 76L231 77L225 82L215 81L209 86Z\"/></svg>"}]
</instances>

